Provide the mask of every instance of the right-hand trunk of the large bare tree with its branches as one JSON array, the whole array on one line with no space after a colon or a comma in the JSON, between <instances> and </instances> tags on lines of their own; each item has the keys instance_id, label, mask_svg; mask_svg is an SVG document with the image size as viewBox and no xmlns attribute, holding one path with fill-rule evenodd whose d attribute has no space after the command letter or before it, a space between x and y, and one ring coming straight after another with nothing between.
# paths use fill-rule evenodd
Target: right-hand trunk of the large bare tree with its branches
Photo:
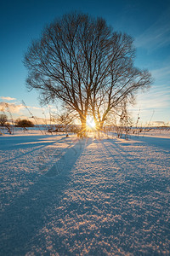
<instances>
[{"instance_id":1,"label":"right-hand trunk of the large bare tree with its branches","mask_svg":"<svg viewBox=\"0 0 170 256\"><path fill-rule=\"evenodd\" d=\"M148 89L152 83L147 70L133 66L134 57L133 38L127 34L113 33L110 52L105 56L107 67L104 79L96 84L90 96L91 112L99 129L111 111L122 108L123 102L133 103L136 92Z\"/></svg>"}]
</instances>

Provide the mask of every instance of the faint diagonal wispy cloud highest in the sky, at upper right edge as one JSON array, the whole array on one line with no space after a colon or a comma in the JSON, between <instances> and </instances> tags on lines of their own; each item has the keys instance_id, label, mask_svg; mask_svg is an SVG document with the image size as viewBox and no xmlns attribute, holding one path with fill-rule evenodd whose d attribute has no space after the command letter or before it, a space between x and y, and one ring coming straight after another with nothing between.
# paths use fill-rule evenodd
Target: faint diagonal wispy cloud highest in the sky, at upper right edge
<instances>
[{"instance_id":1,"label":"faint diagonal wispy cloud highest in the sky, at upper right edge","mask_svg":"<svg viewBox=\"0 0 170 256\"><path fill-rule=\"evenodd\" d=\"M170 44L170 19L169 11L161 15L160 19L150 26L135 40L136 47L144 47L150 51L166 47Z\"/></svg>"}]
</instances>

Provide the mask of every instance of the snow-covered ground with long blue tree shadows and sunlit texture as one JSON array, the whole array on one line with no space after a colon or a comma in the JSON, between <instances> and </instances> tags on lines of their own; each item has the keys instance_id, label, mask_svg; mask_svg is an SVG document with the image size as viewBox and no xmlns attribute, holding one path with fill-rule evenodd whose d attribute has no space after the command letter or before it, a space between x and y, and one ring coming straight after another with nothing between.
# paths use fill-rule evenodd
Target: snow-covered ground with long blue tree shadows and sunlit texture
<instances>
[{"instance_id":1,"label":"snow-covered ground with long blue tree shadows and sunlit texture","mask_svg":"<svg viewBox=\"0 0 170 256\"><path fill-rule=\"evenodd\" d=\"M170 254L169 131L29 132L0 137L1 255Z\"/></svg>"}]
</instances>

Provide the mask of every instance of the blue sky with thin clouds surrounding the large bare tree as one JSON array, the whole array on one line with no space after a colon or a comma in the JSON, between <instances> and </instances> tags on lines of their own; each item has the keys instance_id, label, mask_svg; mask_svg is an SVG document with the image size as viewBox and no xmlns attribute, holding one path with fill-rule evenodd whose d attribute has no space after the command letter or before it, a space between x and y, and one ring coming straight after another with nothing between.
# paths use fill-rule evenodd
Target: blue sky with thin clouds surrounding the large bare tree
<instances>
[{"instance_id":1,"label":"blue sky with thin clouds surrounding the large bare tree","mask_svg":"<svg viewBox=\"0 0 170 256\"><path fill-rule=\"evenodd\" d=\"M135 65L147 68L155 79L150 90L139 93L129 110L133 119L145 124L170 121L170 1L133 0L15 0L0 3L0 108L8 102L14 117L29 116L21 105L24 100L32 113L42 116L38 93L26 90L27 71L22 60L31 39L39 38L43 27L70 11L101 16L116 31L134 38ZM139 110L140 109L140 110Z\"/></svg>"}]
</instances>

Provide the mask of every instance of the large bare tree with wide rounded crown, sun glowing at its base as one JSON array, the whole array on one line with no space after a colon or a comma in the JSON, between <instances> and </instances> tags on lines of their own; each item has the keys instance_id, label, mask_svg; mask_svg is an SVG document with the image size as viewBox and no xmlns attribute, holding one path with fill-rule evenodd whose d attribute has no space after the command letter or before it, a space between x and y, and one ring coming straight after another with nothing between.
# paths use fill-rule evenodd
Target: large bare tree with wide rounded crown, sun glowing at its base
<instances>
[{"instance_id":1,"label":"large bare tree with wide rounded crown, sun glowing at its base","mask_svg":"<svg viewBox=\"0 0 170 256\"><path fill-rule=\"evenodd\" d=\"M150 73L133 67L134 51L133 38L113 32L104 19L67 14L27 49L26 84L39 90L42 103L64 102L82 130L88 113L101 128L111 109L151 82Z\"/></svg>"}]
</instances>

